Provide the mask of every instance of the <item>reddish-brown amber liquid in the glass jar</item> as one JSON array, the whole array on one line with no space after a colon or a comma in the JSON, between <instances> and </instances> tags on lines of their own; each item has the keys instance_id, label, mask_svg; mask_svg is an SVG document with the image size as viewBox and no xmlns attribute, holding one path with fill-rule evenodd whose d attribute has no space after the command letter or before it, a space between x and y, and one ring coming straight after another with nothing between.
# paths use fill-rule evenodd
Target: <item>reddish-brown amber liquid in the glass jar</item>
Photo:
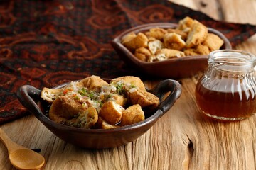
<instances>
[{"instance_id":1,"label":"reddish-brown amber liquid in the glass jar","mask_svg":"<svg viewBox=\"0 0 256 170\"><path fill-rule=\"evenodd\" d=\"M213 91L199 83L196 86L196 102L201 111L211 118L242 120L256 112L255 91Z\"/></svg>"}]
</instances>

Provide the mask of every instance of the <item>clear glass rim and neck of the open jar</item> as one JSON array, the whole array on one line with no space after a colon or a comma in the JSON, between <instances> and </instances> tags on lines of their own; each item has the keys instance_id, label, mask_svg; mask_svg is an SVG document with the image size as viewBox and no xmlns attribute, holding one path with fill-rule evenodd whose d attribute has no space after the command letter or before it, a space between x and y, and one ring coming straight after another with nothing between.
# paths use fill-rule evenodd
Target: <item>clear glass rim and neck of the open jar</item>
<instances>
[{"instance_id":1,"label":"clear glass rim and neck of the open jar","mask_svg":"<svg viewBox=\"0 0 256 170\"><path fill-rule=\"evenodd\" d=\"M215 50L210 52L208 64L223 71L245 72L255 67L256 57L242 50Z\"/></svg>"}]
</instances>

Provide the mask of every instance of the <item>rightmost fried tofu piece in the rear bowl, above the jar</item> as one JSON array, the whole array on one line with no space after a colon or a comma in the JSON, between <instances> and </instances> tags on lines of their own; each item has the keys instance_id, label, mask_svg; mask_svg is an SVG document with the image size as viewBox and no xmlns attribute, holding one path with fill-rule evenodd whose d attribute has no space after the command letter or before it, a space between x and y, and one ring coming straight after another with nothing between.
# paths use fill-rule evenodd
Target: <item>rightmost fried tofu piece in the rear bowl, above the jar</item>
<instances>
[{"instance_id":1,"label":"rightmost fried tofu piece in the rear bowl, above the jar","mask_svg":"<svg viewBox=\"0 0 256 170\"><path fill-rule=\"evenodd\" d=\"M203 45L206 45L210 51L219 50L223 45L223 40L213 33L208 33L206 40L204 40Z\"/></svg>"}]
</instances>

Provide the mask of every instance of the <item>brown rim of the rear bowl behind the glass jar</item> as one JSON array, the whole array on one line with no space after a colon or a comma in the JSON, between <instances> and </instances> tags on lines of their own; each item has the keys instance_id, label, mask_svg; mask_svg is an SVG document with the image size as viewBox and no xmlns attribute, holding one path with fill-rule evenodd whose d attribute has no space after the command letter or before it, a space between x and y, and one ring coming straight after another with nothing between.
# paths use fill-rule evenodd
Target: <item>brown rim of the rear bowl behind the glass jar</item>
<instances>
[{"instance_id":1,"label":"brown rim of the rear bowl behind the glass jar","mask_svg":"<svg viewBox=\"0 0 256 170\"><path fill-rule=\"evenodd\" d=\"M119 35L117 35L116 38L114 38L114 40L112 40L112 44L117 45L119 47L120 50L123 50L124 52L127 53L127 57L129 57L130 60L132 60L132 62L136 63L137 65L140 66L144 66L144 67L150 67L151 65L155 65L155 64L168 64L170 62L178 62L178 61L186 61L186 60L206 60L208 59L208 55L196 55L196 56L186 56L186 57L179 57L179 58L171 58L169 60L164 60L164 61L157 61L157 62L144 62L142 60L139 60L137 57L134 56L134 54L132 54L131 51L129 51L127 49L127 47L124 47L124 45L122 45L121 40L124 37L124 35L128 35L129 33L139 33L145 30L149 30L150 28L176 28L178 26L177 23L145 23L139 26L135 26L133 28L129 28L128 30L124 30L124 32L120 33ZM232 49L232 46L230 44L230 41L228 40L228 38L225 37L225 35L223 35L223 33L220 33L220 31L215 30L214 28L209 28L208 27L208 31L210 33L214 33L215 35L218 35L223 41L223 45L225 45L225 49Z\"/></svg>"}]
</instances>

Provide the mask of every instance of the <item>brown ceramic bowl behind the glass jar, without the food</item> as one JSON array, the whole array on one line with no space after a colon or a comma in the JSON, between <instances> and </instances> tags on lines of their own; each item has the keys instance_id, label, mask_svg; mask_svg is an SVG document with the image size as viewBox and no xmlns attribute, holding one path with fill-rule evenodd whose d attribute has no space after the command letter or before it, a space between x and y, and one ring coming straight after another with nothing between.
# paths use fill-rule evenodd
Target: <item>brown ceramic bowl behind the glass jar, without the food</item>
<instances>
[{"instance_id":1,"label":"brown ceramic bowl behind the glass jar, without the food","mask_svg":"<svg viewBox=\"0 0 256 170\"><path fill-rule=\"evenodd\" d=\"M117 38L112 40L112 47L116 50L119 57L124 60L124 62L129 67L134 67L147 75L153 77L159 77L164 79L179 79L183 77L189 77L193 74L196 74L199 71L204 71L207 64L207 55L198 55L198 56L186 56L181 58L169 59L161 62L143 62L142 60L137 59L132 52L130 52L124 45L122 45L122 38L129 33L139 33L146 32L150 28L176 28L177 24L175 23L148 23L141 26L131 28L129 30L121 33ZM214 33L223 39L224 44L221 49L231 49L230 42L225 35L220 33L218 30L213 28L208 28L209 33Z\"/></svg>"}]
</instances>

